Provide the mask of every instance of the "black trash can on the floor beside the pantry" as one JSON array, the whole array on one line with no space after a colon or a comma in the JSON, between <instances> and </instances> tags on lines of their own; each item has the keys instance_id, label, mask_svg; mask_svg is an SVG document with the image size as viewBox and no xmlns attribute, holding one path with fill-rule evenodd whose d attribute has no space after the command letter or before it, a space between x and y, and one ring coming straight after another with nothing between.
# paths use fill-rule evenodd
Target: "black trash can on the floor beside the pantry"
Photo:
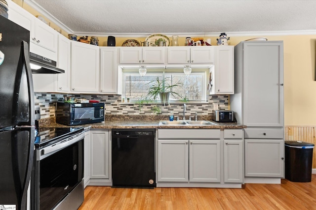
<instances>
[{"instance_id":1,"label":"black trash can on the floor beside the pantry","mask_svg":"<svg viewBox=\"0 0 316 210\"><path fill-rule=\"evenodd\" d=\"M285 141L285 179L296 182L312 180L314 144Z\"/></svg>"}]
</instances>

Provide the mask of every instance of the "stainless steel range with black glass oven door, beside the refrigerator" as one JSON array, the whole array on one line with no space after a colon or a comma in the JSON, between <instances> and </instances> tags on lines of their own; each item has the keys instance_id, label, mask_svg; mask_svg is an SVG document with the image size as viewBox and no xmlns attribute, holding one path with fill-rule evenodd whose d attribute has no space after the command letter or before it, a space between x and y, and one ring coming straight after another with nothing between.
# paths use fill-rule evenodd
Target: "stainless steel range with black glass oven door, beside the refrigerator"
<instances>
[{"instance_id":1,"label":"stainless steel range with black glass oven door, beside the refrigerator","mask_svg":"<svg viewBox=\"0 0 316 210\"><path fill-rule=\"evenodd\" d=\"M35 140L33 210L77 210L83 202L82 127L40 128Z\"/></svg>"}]
</instances>

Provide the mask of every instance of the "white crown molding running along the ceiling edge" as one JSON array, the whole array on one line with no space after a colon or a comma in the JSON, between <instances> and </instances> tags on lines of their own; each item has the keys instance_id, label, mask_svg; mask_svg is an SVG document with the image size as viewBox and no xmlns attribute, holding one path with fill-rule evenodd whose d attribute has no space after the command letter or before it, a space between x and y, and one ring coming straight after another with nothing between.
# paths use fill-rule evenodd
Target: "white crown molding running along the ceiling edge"
<instances>
[{"instance_id":1,"label":"white crown molding running along the ceiling edge","mask_svg":"<svg viewBox=\"0 0 316 210\"><path fill-rule=\"evenodd\" d=\"M115 36L115 37L147 37L154 33L91 33L91 32L83 32L83 31L73 31L57 18L55 18L52 14L47 12L43 7L41 7L34 0L26 0L27 4L29 4L32 8L40 12L44 17L55 23L62 30L67 33L76 34L79 36ZM179 37L213 37L219 36L223 31L219 32L186 32L186 33L162 33L166 36L178 35ZM316 35L316 30L287 30L287 31L224 31L228 36L283 36L283 35Z\"/></svg>"}]
</instances>

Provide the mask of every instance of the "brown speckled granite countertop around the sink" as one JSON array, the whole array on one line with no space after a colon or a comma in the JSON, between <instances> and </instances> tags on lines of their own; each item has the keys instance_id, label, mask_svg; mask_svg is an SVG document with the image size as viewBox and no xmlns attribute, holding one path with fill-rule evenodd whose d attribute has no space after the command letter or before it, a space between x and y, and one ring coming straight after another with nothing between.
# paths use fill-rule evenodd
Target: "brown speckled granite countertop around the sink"
<instances>
[{"instance_id":1,"label":"brown speckled granite countertop around the sink","mask_svg":"<svg viewBox=\"0 0 316 210\"><path fill-rule=\"evenodd\" d=\"M199 120L209 120L215 125L159 125L160 120L166 120L166 116L125 116L113 115L105 118L104 122L76 125L72 127L84 127L85 129L131 129L131 128L155 128L155 129L241 129L246 126L236 122L214 122L207 116L201 116ZM181 121L181 120L180 120ZM46 118L40 120L40 127L69 127L56 123L56 118Z\"/></svg>"}]
</instances>

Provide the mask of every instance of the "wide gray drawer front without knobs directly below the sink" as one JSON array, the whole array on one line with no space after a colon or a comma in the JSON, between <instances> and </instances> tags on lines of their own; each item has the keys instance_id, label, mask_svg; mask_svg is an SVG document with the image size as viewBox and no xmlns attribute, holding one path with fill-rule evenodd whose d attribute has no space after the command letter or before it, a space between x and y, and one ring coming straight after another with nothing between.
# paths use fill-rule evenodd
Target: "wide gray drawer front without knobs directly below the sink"
<instances>
[{"instance_id":1,"label":"wide gray drawer front without knobs directly below the sink","mask_svg":"<svg viewBox=\"0 0 316 210\"><path fill-rule=\"evenodd\" d=\"M158 139L219 139L220 129L159 129Z\"/></svg>"}]
</instances>

